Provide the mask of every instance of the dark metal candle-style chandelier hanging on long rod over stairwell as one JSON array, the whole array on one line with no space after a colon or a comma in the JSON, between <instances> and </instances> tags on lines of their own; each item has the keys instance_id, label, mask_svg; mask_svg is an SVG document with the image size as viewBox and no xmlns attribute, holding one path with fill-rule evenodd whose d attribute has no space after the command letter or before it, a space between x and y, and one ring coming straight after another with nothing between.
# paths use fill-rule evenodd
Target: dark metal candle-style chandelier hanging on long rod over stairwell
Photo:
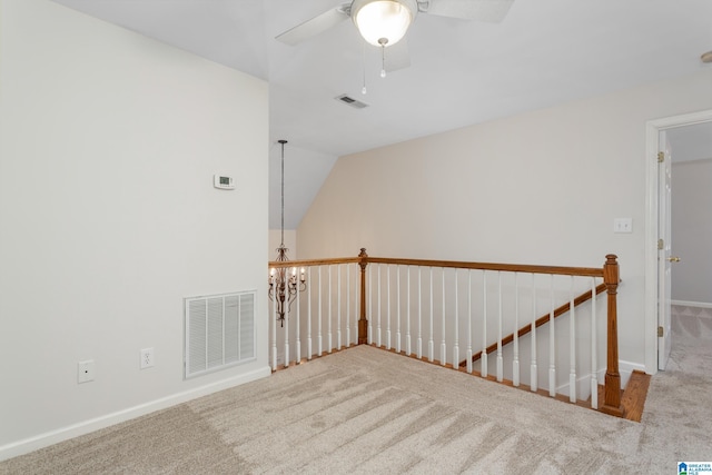
<instances>
[{"instance_id":1,"label":"dark metal candle-style chandelier hanging on long rod over stairwell","mask_svg":"<svg viewBox=\"0 0 712 475\"><path fill-rule=\"evenodd\" d=\"M287 247L285 246L285 144L287 140L278 140L281 145L281 244L277 248L277 263L286 263ZM304 267L297 277L296 267L273 267L269 269L269 299L277 306L277 320L285 326L285 318L291 309L291 304L297 294L307 288Z\"/></svg>"}]
</instances>

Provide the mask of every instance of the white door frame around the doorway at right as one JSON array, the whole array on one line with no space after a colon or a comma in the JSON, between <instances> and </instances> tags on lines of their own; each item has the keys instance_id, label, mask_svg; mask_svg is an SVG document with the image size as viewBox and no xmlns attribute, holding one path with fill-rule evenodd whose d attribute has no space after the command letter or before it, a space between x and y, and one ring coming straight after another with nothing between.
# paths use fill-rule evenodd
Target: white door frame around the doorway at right
<instances>
[{"instance_id":1,"label":"white door frame around the doorway at right","mask_svg":"<svg viewBox=\"0 0 712 475\"><path fill-rule=\"evenodd\" d=\"M657 148L662 130L712 121L712 109L645 122L645 373L657 373Z\"/></svg>"}]
</instances>

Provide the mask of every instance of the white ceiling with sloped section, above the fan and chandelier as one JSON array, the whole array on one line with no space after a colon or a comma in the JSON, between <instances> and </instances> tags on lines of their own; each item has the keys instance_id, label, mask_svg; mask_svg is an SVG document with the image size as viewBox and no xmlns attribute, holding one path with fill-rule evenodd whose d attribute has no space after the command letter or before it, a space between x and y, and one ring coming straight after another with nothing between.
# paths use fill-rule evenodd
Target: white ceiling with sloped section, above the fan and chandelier
<instances>
[{"instance_id":1,"label":"white ceiling with sloped section, above the fan and chandelier","mask_svg":"<svg viewBox=\"0 0 712 475\"><path fill-rule=\"evenodd\" d=\"M712 68L710 0L516 0L500 24L419 14L412 66L383 79L350 21L296 47L274 39L339 0L55 1L269 81L270 228L278 139L294 229L339 156Z\"/></svg>"}]
</instances>

